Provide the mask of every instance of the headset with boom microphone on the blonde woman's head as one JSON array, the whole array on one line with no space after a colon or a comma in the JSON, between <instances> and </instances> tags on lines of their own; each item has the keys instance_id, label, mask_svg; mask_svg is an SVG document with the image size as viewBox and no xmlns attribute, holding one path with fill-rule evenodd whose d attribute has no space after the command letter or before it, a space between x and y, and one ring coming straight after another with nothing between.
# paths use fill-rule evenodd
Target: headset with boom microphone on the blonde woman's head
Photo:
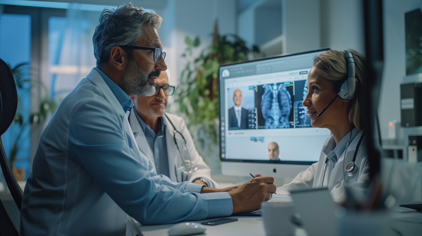
<instances>
[{"instance_id":1,"label":"headset with boom microphone on the blonde woman's head","mask_svg":"<svg viewBox=\"0 0 422 236\"><path fill-rule=\"evenodd\" d=\"M350 101L356 97L357 91L359 91L359 80L355 76L356 67L354 64L354 57L350 51L344 50L344 56L347 61L347 78L340 83L337 88L337 95L331 100L330 103L317 115L321 116L322 113L327 110L327 108L334 102L337 97L340 97L343 100Z\"/></svg>"}]
</instances>

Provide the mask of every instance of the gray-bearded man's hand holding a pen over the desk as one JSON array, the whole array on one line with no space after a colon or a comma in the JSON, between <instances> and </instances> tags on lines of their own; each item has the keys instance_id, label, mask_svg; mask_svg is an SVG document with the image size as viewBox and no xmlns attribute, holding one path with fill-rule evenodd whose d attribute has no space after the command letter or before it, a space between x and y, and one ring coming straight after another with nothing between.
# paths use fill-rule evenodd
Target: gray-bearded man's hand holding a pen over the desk
<instances>
[{"instance_id":1,"label":"gray-bearded man's hand holding a pen over the desk","mask_svg":"<svg viewBox=\"0 0 422 236\"><path fill-rule=\"evenodd\" d=\"M270 199L271 194L276 191L276 185L273 183L273 177L257 174L254 179L228 192L233 201L233 214L259 209L261 202Z\"/></svg>"}]
</instances>

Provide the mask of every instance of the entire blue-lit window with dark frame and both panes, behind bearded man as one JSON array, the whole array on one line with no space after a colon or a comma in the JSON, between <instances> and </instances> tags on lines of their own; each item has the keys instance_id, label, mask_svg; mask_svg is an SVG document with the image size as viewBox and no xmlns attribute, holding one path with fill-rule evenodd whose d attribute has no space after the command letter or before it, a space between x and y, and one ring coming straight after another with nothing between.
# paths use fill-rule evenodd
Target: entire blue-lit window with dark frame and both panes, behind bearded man
<instances>
[{"instance_id":1,"label":"entire blue-lit window with dark frame and both panes, behind bearded man","mask_svg":"<svg viewBox=\"0 0 422 236\"><path fill-rule=\"evenodd\" d=\"M16 156L13 166L23 169L24 180L55 107L95 67L92 35L101 11L87 10L83 4L65 5L67 9L2 5L0 58L12 68L26 63L20 68L32 85L18 88L22 125L13 123L2 136L6 155Z\"/></svg>"}]
</instances>

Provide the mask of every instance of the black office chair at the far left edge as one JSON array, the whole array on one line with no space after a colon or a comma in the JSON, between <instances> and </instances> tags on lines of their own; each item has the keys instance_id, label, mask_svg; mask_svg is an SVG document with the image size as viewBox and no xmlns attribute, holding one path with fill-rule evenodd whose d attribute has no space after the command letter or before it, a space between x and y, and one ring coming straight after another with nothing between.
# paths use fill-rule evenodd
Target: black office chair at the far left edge
<instances>
[{"instance_id":1,"label":"black office chair at the far left edge","mask_svg":"<svg viewBox=\"0 0 422 236\"><path fill-rule=\"evenodd\" d=\"M1 135L9 128L16 114L18 96L13 74L8 65L0 59L0 165L10 193L19 210L22 202L22 189L16 182L6 157ZM0 235L18 235L3 203L0 200Z\"/></svg>"}]
</instances>

